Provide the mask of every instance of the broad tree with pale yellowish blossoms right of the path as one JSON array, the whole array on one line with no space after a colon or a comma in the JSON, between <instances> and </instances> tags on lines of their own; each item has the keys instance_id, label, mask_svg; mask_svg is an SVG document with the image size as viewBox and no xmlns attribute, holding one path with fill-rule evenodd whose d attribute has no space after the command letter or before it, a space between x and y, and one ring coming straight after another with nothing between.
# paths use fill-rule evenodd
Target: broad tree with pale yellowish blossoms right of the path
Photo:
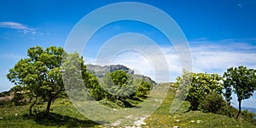
<instances>
[{"instance_id":1,"label":"broad tree with pale yellowish blossoms right of the path","mask_svg":"<svg viewBox=\"0 0 256 128\"><path fill-rule=\"evenodd\" d=\"M223 85L220 83L221 79L218 74L184 71L183 76L177 78L174 86L177 87L177 93L186 96L186 100L190 102L191 109L197 110L200 102L208 94L221 94L223 89Z\"/></svg>"}]
</instances>

